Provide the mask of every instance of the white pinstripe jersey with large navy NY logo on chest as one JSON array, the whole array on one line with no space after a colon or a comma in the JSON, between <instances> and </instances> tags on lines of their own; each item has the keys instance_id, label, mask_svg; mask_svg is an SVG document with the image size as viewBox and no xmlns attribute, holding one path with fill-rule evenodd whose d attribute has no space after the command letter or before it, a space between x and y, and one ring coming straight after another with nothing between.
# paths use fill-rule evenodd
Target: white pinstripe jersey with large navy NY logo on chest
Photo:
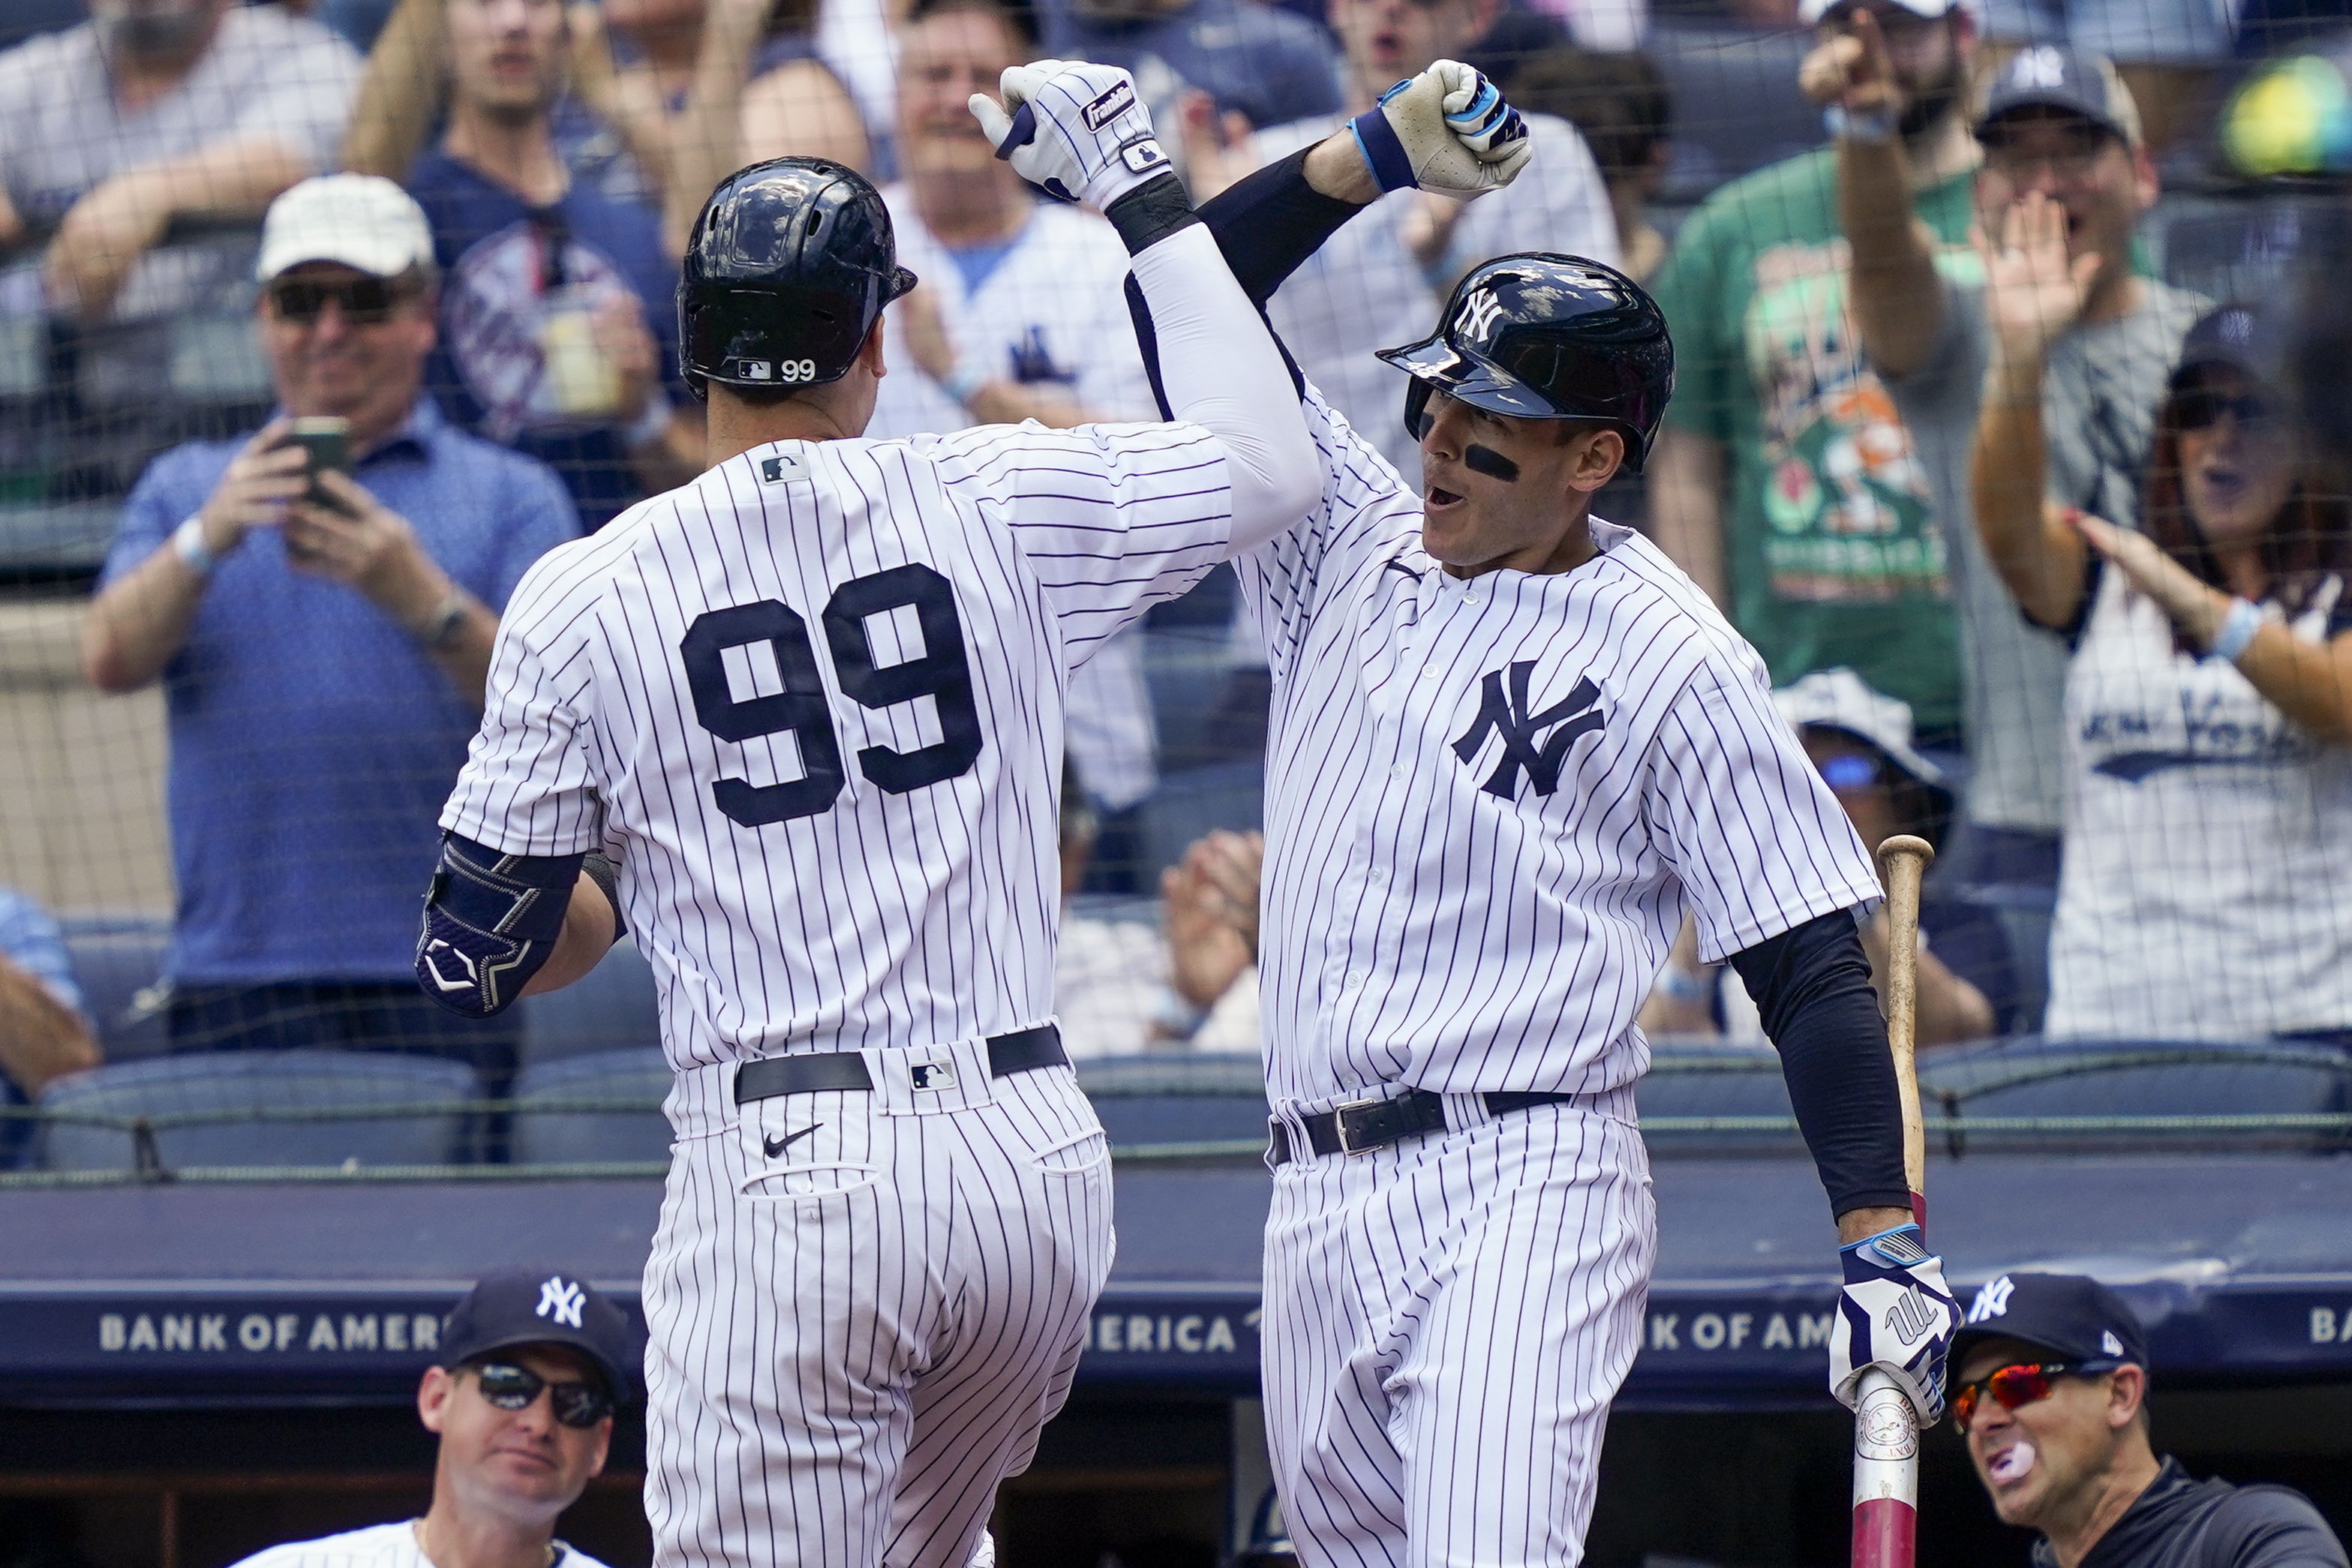
<instances>
[{"instance_id":1,"label":"white pinstripe jersey with large navy NY logo on chest","mask_svg":"<svg viewBox=\"0 0 2352 1568\"><path fill-rule=\"evenodd\" d=\"M1275 672L1268 1093L1630 1084L1684 907L1710 961L1879 898L1764 661L1649 541L1454 578L1308 400L1319 508L1235 564Z\"/></svg>"}]
</instances>

